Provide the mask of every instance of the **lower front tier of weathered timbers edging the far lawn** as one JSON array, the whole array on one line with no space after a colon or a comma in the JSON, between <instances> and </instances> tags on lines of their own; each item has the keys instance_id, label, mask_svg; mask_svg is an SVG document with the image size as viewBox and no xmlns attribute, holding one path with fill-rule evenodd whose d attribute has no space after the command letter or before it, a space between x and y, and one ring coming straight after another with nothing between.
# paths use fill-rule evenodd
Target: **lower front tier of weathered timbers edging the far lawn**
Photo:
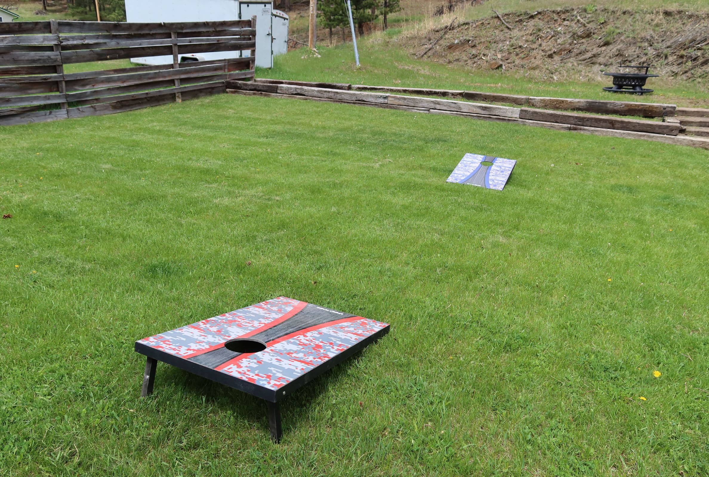
<instances>
[{"instance_id":1,"label":"lower front tier of weathered timbers edging the far lawn","mask_svg":"<svg viewBox=\"0 0 709 477\"><path fill-rule=\"evenodd\" d=\"M325 87L327 86L327 87ZM372 91L374 89L374 91ZM389 90L389 88L387 88ZM401 91L406 90L406 91ZM597 114L569 113L562 111L547 111L535 108L514 108L494 104L472 103L469 101L454 101L450 99L423 98L419 96L402 96L388 94L373 86L352 86L337 83L288 82L284 80L257 79L255 82L229 81L227 91L234 94L271 96L279 98L308 99L313 101L330 101L359 106L374 106L379 108L400 109L420 113L448 114L482 120L502 121L534 125L556 130L578 131L594 135L615 136L668 142L670 144L703 147L709 149L709 139L679 136L681 125L673 118L666 122L657 120L642 120L632 118L617 118L613 116L598 116ZM378 92L379 91L379 92ZM395 89L396 92L414 92L428 94L430 91L445 91L447 94L457 94L458 91L429 89ZM464 91L462 91L464 93ZM442 94L439 94L441 96ZM577 101L577 100L569 100ZM615 103L615 101L609 101ZM652 103L625 103L633 107L647 105L648 113L661 111ZM649 108L652 106L652 108ZM605 107L605 106L604 106ZM666 111L666 109L664 110ZM617 112L616 112L617 113Z\"/></svg>"}]
</instances>

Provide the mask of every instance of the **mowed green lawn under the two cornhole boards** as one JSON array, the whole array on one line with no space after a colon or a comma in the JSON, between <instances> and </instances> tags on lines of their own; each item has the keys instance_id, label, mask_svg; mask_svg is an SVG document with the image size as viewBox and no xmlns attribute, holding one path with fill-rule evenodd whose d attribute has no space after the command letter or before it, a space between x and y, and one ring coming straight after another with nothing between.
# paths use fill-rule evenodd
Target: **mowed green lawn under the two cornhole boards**
<instances>
[{"instance_id":1,"label":"mowed green lawn under the two cornhole boards","mask_svg":"<svg viewBox=\"0 0 709 477\"><path fill-rule=\"evenodd\" d=\"M227 94L0 140L2 475L709 472L705 150ZM164 364L140 400L136 339L276 296L391 333L279 445Z\"/></svg>"}]
</instances>

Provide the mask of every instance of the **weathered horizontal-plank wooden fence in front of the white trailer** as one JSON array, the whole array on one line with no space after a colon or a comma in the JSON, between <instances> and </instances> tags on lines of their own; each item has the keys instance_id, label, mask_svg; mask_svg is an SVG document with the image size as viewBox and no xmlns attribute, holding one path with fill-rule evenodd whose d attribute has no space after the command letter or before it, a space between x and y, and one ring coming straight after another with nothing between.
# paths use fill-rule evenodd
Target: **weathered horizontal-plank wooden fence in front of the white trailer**
<instances>
[{"instance_id":1,"label":"weathered horizontal-plank wooden fence in front of the white trailer","mask_svg":"<svg viewBox=\"0 0 709 477\"><path fill-rule=\"evenodd\" d=\"M256 17L199 23L0 23L0 125L79 118L224 93L254 79ZM230 60L179 55L250 50ZM72 63L171 55L172 64L65 74Z\"/></svg>"}]
</instances>

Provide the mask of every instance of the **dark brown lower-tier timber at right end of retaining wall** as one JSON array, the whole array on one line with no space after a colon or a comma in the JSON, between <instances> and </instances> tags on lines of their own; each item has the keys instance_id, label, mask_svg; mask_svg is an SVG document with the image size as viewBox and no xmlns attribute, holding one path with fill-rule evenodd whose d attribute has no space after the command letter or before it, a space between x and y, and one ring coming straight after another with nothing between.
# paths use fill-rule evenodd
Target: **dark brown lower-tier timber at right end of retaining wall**
<instances>
[{"instance_id":1,"label":"dark brown lower-tier timber at right end of retaining wall","mask_svg":"<svg viewBox=\"0 0 709 477\"><path fill-rule=\"evenodd\" d=\"M644 133L679 134L679 125L660 123L642 119L613 118L610 116L594 116L591 114L562 113L560 111L545 111L542 109L522 108L520 118L547 123L561 123L591 128L617 129L625 131L640 131Z\"/></svg>"}]
</instances>

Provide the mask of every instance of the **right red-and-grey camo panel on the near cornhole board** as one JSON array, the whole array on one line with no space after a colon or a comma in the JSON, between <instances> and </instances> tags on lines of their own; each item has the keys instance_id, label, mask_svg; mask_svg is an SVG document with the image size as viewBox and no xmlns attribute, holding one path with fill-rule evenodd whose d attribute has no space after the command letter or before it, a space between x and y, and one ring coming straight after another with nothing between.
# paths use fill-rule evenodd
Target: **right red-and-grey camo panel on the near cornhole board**
<instances>
[{"instance_id":1,"label":"right red-and-grey camo panel on the near cornhole board","mask_svg":"<svg viewBox=\"0 0 709 477\"><path fill-rule=\"evenodd\" d=\"M222 371L276 390L386 327L367 318L306 332L229 364Z\"/></svg>"}]
</instances>

